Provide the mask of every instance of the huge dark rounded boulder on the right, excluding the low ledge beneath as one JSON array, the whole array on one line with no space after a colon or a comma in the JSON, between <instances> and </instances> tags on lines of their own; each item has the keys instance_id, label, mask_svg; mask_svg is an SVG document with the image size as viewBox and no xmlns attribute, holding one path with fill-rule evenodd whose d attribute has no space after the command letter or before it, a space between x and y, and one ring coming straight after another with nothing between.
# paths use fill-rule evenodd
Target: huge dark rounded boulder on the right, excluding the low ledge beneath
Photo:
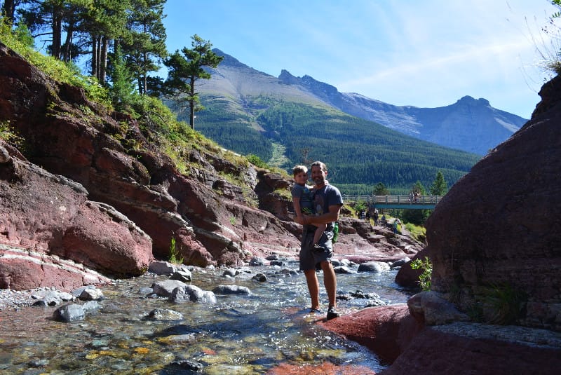
<instances>
[{"instance_id":1,"label":"huge dark rounded boulder on the right, excluding the low ledge beneath","mask_svg":"<svg viewBox=\"0 0 561 375\"><path fill-rule=\"evenodd\" d=\"M532 119L438 203L426 238L432 287L461 311L518 296L503 301L511 322L561 331L561 77L540 95Z\"/></svg>"}]
</instances>

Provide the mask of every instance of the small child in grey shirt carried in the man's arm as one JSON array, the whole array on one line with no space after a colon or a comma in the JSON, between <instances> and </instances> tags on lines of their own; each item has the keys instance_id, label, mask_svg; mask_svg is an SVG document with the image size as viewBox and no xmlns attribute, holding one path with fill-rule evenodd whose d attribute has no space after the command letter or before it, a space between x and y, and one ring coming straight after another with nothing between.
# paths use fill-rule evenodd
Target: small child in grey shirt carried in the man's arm
<instances>
[{"instance_id":1,"label":"small child in grey shirt carried in the man's arm","mask_svg":"<svg viewBox=\"0 0 561 375\"><path fill-rule=\"evenodd\" d=\"M292 176L296 184L292 187L292 203L294 205L294 211L297 217L302 217L302 214L313 215L313 200L311 197L311 191L306 182L308 181L308 168L304 165L297 165L292 169ZM327 224L316 225L316 231L313 233L313 247L311 250L317 252L323 252L324 249L318 242L323 235L323 232L327 229Z\"/></svg>"}]
</instances>

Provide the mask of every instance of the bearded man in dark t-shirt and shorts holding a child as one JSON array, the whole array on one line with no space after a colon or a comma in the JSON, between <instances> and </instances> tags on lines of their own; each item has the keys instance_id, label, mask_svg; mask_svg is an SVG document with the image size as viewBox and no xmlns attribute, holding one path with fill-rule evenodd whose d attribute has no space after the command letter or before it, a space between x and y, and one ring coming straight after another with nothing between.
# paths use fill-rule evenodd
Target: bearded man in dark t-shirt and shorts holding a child
<instances>
[{"instance_id":1,"label":"bearded man in dark t-shirt and shorts holding a child","mask_svg":"<svg viewBox=\"0 0 561 375\"><path fill-rule=\"evenodd\" d=\"M302 215L295 221L302 224L302 244L300 246L300 271L304 271L306 282L311 297L311 313L320 312L320 287L316 269L323 270L323 285L329 299L327 310L327 320L338 318L337 313L337 278L331 264L333 254L333 227L334 222L339 219L339 212L343 206L343 198L339 189L327 183L327 168L325 164L316 161L311 165L311 179L315 185L313 193L313 205L316 207L316 215ZM323 232L318 247L313 247L313 233L316 229L314 225L327 224L327 229Z\"/></svg>"}]
</instances>

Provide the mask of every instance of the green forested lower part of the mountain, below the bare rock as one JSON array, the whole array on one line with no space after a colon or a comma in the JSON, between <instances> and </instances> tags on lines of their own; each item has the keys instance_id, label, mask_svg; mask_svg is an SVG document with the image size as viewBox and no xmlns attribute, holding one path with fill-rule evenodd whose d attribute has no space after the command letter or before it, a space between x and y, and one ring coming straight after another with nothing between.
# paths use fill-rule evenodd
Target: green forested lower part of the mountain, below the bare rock
<instances>
[{"instance_id":1,"label":"green forested lower part of the mountain, below the bare rock","mask_svg":"<svg viewBox=\"0 0 561 375\"><path fill-rule=\"evenodd\" d=\"M479 156L419 141L382 125L327 107L271 97L245 98L245 112L231 100L202 97L197 129L239 154L297 163L325 161L330 181L345 193L372 193L383 183L391 193L408 193L415 182L430 186L438 170L451 186ZM273 150L283 150L278 158Z\"/></svg>"}]
</instances>

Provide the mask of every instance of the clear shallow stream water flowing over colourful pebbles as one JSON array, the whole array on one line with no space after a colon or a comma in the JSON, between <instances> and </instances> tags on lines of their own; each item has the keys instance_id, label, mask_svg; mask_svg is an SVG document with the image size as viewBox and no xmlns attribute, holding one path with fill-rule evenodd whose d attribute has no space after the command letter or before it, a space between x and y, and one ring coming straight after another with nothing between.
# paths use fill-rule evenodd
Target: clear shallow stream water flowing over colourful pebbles
<instances>
[{"instance_id":1,"label":"clear shallow stream water flowing over colourful pebbles","mask_svg":"<svg viewBox=\"0 0 561 375\"><path fill-rule=\"evenodd\" d=\"M297 269L297 263L288 267ZM217 295L217 304L146 298L139 289L165 277L144 275L100 288L101 308L79 322L56 322L55 307L6 308L0 311L0 374L264 374L282 363L326 361L377 372L386 368L370 350L315 324L325 314L308 313L303 273L247 269L251 273L225 278L223 268L194 268L191 284L203 290L235 284L252 291ZM259 272L266 282L251 280ZM360 290L378 294L386 304L404 303L409 294L393 282L396 272L338 274L337 294ZM321 272L318 278L326 308ZM339 300L338 307L346 314L368 302ZM146 320L155 308L177 311L184 319Z\"/></svg>"}]
</instances>

